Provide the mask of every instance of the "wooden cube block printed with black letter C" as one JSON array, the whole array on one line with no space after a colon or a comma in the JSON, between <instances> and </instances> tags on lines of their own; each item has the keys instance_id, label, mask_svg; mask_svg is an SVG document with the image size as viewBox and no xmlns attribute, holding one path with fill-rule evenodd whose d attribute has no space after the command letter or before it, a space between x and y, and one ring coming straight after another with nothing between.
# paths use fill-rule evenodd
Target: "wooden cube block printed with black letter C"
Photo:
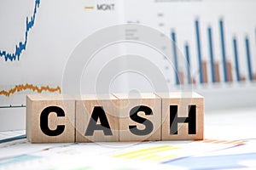
<instances>
[{"instance_id":1,"label":"wooden cube block printed with black letter C","mask_svg":"<svg viewBox=\"0 0 256 170\"><path fill-rule=\"evenodd\" d=\"M62 95L27 95L26 138L31 143L74 142L74 116L74 99Z\"/></svg>"}]
</instances>

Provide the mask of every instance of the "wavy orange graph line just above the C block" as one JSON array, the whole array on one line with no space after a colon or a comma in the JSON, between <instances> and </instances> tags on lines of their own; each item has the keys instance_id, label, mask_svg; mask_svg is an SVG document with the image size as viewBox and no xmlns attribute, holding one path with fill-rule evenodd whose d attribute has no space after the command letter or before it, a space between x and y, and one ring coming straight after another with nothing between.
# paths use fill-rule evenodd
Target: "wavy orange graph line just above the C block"
<instances>
[{"instance_id":1,"label":"wavy orange graph line just above the C block","mask_svg":"<svg viewBox=\"0 0 256 170\"><path fill-rule=\"evenodd\" d=\"M49 88L49 86L35 86L32 84L20 84L16 85L15 88L11 88L9 90L2 90L0 91L0 95L5 95L6 97L9 97L10 94L15 94L20 91L25 91L25 90L32 90L32 91L37 91L39 94L42 93L43 91L48 91L48 92L59 92L61 94L61 88L57 86L56 88Z\"/></svg>"}]
</instances>

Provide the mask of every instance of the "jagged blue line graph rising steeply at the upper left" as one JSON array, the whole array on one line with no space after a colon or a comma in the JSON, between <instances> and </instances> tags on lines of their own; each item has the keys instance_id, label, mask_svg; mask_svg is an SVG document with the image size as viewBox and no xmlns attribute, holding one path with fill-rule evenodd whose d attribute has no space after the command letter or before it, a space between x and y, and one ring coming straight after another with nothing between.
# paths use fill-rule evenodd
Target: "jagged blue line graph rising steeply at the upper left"
<instances>
[{"instance_id":1,"label":"jagged blue line graph rising steeply at the upper left","mask_svg":"<svg viewBox=\"0 0 256 170\"><path fill-rule=\"evenodd\" d=\"M20 60L20 54L22 54L22 52L24 50L26 50L26 42L27 42L27 37L28 37L28 33L29 31L32 29L32 27L34 26L35 23L35 19L36 19L36 14L39 8L39 4L40 4L40 0L35 0L35 7L34 7L34 11L32 16L30 17L26 17L26 31L25 31L25 40L23 42L19 42L16 46L15 46L15 53L9 53L5 50L0 50L0 57L4 57L5 61L8 61L8 59L10 61L13 60Z\"/></svg>"}]
</instances>

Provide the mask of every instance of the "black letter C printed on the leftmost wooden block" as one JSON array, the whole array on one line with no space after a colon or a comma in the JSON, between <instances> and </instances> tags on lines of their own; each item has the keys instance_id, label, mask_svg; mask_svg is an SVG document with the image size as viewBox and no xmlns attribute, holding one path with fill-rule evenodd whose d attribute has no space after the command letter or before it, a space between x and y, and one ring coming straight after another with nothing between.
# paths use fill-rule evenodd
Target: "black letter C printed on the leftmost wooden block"
<instances>
[{"instance_id":1,"label":"black letter C printed on the leftmost wooden block","mask_svg":"<svg viewBox=\"0 0 256 170\"><path fill-rule=\"evenodd\" d=\"M49 113L55 112L57 116L65 116L64 111L58 106L46 107L40 116L40 127L44 134L48 136L58 136L64 132L65 125L57 125L55 130L50 130L48 126Z\"/></svg>"}]
</instances>

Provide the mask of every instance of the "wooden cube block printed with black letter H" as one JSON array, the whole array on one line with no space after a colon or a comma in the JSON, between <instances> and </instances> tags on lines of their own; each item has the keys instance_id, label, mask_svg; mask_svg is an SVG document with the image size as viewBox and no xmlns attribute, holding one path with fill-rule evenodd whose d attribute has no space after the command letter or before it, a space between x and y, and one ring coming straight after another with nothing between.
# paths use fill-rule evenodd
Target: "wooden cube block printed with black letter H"
<instances>
[{"instance_id":1,"label":"wooden cube block printed with black letter H","mask_svg":"<svg viewBox=\"0 0 256 170\"><path fill-rule=\"evenodd\" d=\"M162 140L203 139L204 98L201 95L157 95L162 99Z\"/></svg>"}]
</instances>

